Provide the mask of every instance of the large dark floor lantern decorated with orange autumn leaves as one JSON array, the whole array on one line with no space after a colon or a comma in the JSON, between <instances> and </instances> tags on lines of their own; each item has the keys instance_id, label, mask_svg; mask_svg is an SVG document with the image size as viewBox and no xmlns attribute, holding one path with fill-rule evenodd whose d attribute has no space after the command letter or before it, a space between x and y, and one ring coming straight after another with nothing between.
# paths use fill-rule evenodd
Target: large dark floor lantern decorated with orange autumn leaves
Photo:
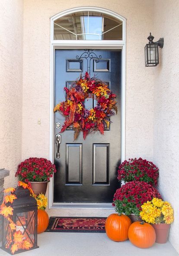
<instances>
[{"instance_id":1,"label":"large dark floor lantern decorated with orange autumn leaves","mask_svg":"<svg viewBox=\"0 0 179 256\"><path fill-rule=\"evenodd\" d=\"M10 253L25 252L38 248L37 246L37 201L30 196L29 189L22 186L15 188L13 192L16 199L7 206L13 208L11 218L3 217L3 241L1 249ZM10 224L14 227L11 228ZM18 240L19 236L19 240ZM12 253L12 246L16 243L16 250ZM19 246L18 245L22 245Z\"/></svg>"}]
</instances>

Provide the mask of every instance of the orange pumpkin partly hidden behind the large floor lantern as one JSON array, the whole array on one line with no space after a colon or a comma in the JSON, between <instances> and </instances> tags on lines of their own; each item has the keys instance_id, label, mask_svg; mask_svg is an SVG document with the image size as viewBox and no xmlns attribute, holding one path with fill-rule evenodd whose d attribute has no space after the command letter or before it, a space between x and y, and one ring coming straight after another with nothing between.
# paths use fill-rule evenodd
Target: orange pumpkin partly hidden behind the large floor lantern
<instances>
[{"instance_id":1,"label":"orange pumpkin partly hidden behind the large floor lantern","mask_svg":"<svg viewBox=\"0 0 179 256\"><path fill-rule=\"evenodd\" d=\"M37 213L37 233L42 233L48 227L48 214L45 210L38 209Z\"/></svg>"}]
</instances>

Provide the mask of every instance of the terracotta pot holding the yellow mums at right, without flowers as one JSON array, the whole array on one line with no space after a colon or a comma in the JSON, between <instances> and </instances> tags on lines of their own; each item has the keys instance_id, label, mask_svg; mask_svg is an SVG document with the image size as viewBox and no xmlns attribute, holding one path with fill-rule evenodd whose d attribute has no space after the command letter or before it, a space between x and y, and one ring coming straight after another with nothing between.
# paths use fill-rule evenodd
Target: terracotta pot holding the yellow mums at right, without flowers
<instances>
[{"instance_id":1,"label":"terracotta pot holding the yellow mums at right, without flowers","mask_svg":"<svg viewBox=\"0 0 179 256\"><path fill-rule=\"evenodd\" d=\"M160 224L153 224L152 226L154 227L155 233L156 233L155 242L166 243L168 234L169 234L170 224L160 223Z\"/></svg>"}]
</instances>

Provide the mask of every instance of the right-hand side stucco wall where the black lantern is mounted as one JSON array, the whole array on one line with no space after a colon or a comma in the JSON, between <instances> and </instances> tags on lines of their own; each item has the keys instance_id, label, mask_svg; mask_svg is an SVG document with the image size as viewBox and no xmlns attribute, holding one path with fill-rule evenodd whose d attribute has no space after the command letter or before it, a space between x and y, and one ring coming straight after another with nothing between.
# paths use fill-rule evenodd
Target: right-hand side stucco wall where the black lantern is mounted
<instances>
[{"instance_id":1,"label":"right-hand side stucco wall where the black lantern is mounted","mask_svg":"<svg viewBox=\"0 0 179 256\"><path fill-rule=\"evenodd\" d=\"M154 75L153 157L159 189L174 207L169 240L179 252L179 1L155 1L153 35L164 38Z\"/></svg>"}]
</instances>

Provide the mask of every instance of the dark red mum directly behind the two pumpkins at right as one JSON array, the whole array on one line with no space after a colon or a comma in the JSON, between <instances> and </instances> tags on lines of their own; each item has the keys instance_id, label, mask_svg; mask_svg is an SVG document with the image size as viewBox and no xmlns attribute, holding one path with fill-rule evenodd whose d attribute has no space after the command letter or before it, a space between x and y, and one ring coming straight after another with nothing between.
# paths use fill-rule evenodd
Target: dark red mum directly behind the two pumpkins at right
<instances>
[{"instance_id":1,"label":"dark red mum directly behind the two pumpkins at right","mask_svg":"<svg viewBox=\"0 0 179 256\"><path fill-rule=\"evenodd\" d=\"M113 206L118 214L139 216L141 205L153 198L162 199L156 188L144 181L131 181L116 190Z\"/></svg>"}]
</instances>

